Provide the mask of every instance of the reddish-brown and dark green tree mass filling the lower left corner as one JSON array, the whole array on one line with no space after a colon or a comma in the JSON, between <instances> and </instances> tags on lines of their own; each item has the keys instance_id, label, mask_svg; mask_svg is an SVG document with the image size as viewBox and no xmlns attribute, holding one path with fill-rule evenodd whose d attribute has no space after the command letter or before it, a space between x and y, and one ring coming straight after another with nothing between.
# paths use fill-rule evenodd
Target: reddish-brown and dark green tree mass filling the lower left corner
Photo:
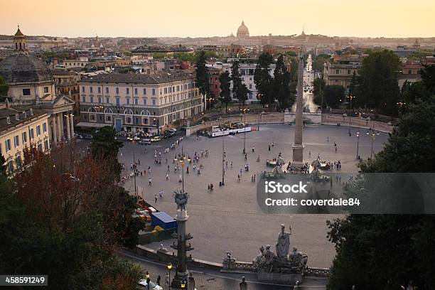
<instances>
[{"instance_id":1,"label":"reddish-brown and dark green tree mass filling the lower left corner","mask_svg":"<svg viewBox=\"0 0 435 290\"><path fill-rule=\"evenodd\" d=\"M31 146L10 188L0 176L0 269L48 274L49 289L134 289L139 269L114 252L137 235L130 197L104 160L78 152Z\"/></svg>"}]
</instances>

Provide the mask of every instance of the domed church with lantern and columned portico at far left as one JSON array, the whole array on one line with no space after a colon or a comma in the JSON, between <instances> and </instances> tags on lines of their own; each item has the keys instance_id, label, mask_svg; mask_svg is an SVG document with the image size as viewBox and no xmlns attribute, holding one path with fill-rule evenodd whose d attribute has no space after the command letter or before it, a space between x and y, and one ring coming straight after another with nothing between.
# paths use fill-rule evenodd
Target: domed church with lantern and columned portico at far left
<instances>
[{"instance_id":1,"label":"domed church with lantern and columned portico at far left","mask_svg":"<svg viewBox=\"0 0 435 290\"><path fill-rule=\"evenodd\" d=\"M9 85L7 102L50 114L50 139L57 143L74 135L73 100L56 96L53 74L43 61L28 53L20 27L14 35L15 53L0 62L0 75Z\"/></svg>"}]
</instances>

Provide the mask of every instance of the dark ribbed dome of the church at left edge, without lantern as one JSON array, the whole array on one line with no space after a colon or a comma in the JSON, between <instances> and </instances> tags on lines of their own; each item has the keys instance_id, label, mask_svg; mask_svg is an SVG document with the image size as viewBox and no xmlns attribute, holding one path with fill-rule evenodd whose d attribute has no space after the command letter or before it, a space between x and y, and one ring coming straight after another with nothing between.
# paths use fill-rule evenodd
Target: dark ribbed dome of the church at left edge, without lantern
<instances>
[{"instance_id":1,"label":"dark ribbed dome of the church at left edge, without lantern","mask_svg":"<svg viewBox=\"0 0 435 290\"><path fill-rule=\"evenodd\" d=\"M52 81L50 68L38 58L27 53L10 55L0 62L0 75L6 82Z\"/></svg>"}]
</instances>

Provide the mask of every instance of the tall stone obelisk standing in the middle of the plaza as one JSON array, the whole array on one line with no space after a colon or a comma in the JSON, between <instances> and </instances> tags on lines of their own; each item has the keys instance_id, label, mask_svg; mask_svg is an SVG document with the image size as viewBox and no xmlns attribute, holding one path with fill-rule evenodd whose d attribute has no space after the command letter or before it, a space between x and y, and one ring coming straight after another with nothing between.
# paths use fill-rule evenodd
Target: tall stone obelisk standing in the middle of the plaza
<instances>
[{"instance_id":1,"label":"tall stone obelisk standing in the middle of the plaza","mask_svg":"<svg viewBox=\"0 0 435 290\"><path fill-rule=\"evenodd\" d=\"M299 56L298 67L298 87L296 88L296 122L294 129L294 144L293 148L293 162L294 168L300 169L304 165L304 144L302 144L302 107L304 107L304 58Z\"/></svg>"}]
</instances>

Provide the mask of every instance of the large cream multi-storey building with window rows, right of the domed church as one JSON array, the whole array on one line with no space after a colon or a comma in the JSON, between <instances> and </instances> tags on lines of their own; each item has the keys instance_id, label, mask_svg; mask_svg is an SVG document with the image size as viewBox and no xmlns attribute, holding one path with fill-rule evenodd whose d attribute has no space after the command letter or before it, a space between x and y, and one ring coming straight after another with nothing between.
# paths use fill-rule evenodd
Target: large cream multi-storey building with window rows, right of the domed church
<instances>
[{"instance_id":1,"label":"large cream multi-storey building with window rows, right of the domed church","mask_svg":"<svg viewBox=\"0 0 435 290\"><path fill-rule=\"evenodd\" d=\"M117 131L168 129L201 114L204 99L195 74L107 74L83 79L78 127L114 126Z\"/></svg>"}]
</instances>

